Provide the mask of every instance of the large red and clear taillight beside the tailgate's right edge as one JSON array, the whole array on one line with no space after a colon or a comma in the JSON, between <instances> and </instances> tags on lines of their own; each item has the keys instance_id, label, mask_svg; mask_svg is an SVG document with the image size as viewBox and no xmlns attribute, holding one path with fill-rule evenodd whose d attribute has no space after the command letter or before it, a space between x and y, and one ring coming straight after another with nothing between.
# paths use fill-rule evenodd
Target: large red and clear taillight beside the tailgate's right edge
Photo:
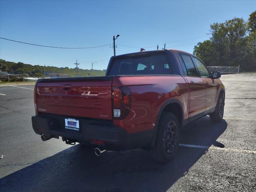
<instances>
[{"instance_id":1,"label":"large red and clear taillight beside the tailgate's right edge","mask_svg":"<svg viewBox=\"0 0 256 192\"><path fill-rule=\"evenodd\" d=\"M124 119L131 110L132 92L128 87L112 88L112 106L114 119Z\"/></svg>"}]
</instances>

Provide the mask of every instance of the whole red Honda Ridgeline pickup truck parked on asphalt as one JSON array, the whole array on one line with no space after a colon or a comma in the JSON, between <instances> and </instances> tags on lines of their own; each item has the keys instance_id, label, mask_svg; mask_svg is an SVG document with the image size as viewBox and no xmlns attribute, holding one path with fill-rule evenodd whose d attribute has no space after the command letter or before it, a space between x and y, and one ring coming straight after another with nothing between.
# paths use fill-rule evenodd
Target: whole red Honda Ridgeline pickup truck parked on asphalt
<instances>
[{"instance_id":1,"label":"whole red Honda Ridgeline pickup truck parked on asphalt","mask_svg":"<svg viewBox=\"0 0 256 192\"><path fill-rule=\"evenodd\" d=\"M210 115L223 118L219 72L179 50L113 56L106 76L40 79L32 126L42 140L62 137L106 150L143 148L159 162L178 151L182 126Z\"/></svg>"}]
</instances>

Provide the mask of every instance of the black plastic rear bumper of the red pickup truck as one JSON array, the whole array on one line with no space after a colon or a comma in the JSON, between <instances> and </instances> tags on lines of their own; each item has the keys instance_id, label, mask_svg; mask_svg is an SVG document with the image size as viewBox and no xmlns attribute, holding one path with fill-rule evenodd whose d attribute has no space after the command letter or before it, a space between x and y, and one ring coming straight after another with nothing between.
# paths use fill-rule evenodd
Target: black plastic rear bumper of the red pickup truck
<instances>
[{"instance_id":1,"label":"black plastic rear bumper of the red pickup truck","mask_svg":"<svg viewBox=\"0 0 256 192\"><path fill-rule=\"evenodd\" d=\"M76 118L76 117L74 117ZM104 141L107 150L127 150L150 146L154 129L134 134L128 134L126 130L115 127L112 121L79 119L80 130L65 129L65 117L58 115L32 116L32 126L36 134L51 138L67 138L75 142L87 145L99 146L92 140Z\"/></svg>"}]
</instances>

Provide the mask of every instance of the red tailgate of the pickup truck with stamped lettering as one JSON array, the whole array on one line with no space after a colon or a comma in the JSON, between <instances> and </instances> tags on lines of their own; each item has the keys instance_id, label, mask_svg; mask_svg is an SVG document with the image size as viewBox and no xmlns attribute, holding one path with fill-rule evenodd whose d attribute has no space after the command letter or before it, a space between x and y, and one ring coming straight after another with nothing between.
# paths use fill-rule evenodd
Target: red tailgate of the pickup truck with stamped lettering
<instances>
[{"instance_id":1,"label":"red tailgate of the pickup truck with stamped lettering","mask_svg":"<svg viewBox=\"0 0 256 192\"><path fill-rule=\"evenodd\" d=\"M36 84L38 112L112 119L112 76L41 79Z\"/></svg>"}]
</instances>

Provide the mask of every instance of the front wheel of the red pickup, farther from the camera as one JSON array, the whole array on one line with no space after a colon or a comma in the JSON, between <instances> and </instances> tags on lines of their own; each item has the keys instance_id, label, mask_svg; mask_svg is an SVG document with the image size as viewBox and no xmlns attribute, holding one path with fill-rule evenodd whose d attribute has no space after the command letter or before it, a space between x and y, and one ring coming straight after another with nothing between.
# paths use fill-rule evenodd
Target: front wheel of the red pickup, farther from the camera
<instances>
[{"instance_id":1,"label":"front wheel of the red pickup, farther from the camera","mask_svg":"<svg viewBox=\"0 0 256 192\"><path fill-rule=\"evenodd\" d=\"M225 94L224 92L221 92L218 98L215 111L212 114L210 114L210 119L212 120L212 122L218 123L223 119L224 105L225 105Z\"/></svg>"}]
</instances>

